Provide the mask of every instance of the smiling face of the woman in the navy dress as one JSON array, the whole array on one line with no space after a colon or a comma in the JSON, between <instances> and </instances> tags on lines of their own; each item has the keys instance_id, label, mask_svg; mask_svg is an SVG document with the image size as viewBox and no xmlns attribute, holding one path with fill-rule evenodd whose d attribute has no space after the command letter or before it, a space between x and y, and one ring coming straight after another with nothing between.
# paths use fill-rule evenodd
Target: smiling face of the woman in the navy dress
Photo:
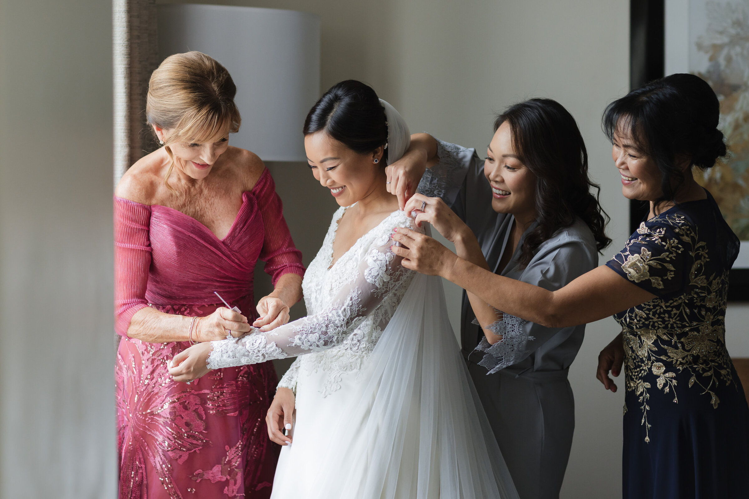
<instances>
[{"instance_id":1,"label":"smiling face of the woman in the navy dress","mask_svg":"<svg viewBox=\"0 0 749 499\"><path fill-rule=\"evenodd\" d=\"M627 199L657 200L662 195L661 171L632 138L628 127L619 126L613 134L611 156L622 177L622 194Z\"/></svg>"}]
</instances>

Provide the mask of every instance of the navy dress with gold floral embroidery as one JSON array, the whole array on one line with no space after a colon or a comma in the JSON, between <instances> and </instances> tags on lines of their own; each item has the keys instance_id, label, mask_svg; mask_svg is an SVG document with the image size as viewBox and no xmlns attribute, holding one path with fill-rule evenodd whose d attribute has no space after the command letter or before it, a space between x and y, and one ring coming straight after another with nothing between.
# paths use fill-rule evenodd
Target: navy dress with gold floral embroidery
<instances>
[{"instance_id":1,"label":"navy dress with gold floral embroidery","mask_svg":"<svg viewBox=\"0 0 749 499\"><path fill-rule=\"evenodd\" d=\"M617 313L625 498L748 498L749 409L725 342L739 239L708 193L643 221L606 265L657 298Z\"/></svg>"}]
</instances>

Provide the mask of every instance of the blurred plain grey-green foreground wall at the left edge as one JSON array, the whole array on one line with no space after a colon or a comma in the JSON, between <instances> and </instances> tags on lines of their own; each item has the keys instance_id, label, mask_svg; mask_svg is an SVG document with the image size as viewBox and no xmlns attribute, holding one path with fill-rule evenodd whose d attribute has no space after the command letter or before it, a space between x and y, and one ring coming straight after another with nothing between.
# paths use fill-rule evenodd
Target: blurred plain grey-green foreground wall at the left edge
<instances>
[{"instance_id":1,"label":"blurred plain grey-green foreground wall at the left edge","mask_svg":"<svg viewBox=\"0 0 749 499\"><path fill-rule=\"evenodd\" d=\"M115 497L112 13L0 0L0 497Z\"/></svg>"}]
</instances>

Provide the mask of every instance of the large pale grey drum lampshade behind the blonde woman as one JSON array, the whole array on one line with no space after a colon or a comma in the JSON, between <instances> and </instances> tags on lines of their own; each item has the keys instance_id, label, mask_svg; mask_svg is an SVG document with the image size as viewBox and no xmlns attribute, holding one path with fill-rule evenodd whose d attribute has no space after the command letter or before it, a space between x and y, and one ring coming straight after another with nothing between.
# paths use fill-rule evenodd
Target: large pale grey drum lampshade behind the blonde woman
<instances>
[{"instance_id":1,"label":"large pale grey drum lampshade behind the blonde woman","mask_svg":"<svg viewBox=\"0 0 749 499\"><path fill-rule=\"evenodd\" d=\"M320 97L320 18L258 7L158 6L160 60L197 50L237 85L242 126L230 143L264 161L305 161L302 127Z\"/></svg>"}]
</instances>

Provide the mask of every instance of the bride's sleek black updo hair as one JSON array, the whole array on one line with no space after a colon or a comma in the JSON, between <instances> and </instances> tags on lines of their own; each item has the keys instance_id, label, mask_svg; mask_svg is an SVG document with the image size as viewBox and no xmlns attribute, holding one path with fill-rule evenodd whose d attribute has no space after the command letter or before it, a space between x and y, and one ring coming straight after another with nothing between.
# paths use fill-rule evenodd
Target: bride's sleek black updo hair
<instances>
[{"instance_id":1,"label":"bride's sleek black updo hair","mask_svg":"<svg viewBox=\"0 0 749 499\"><path fill-rule=\"evenodd\" d=\"M309 110L304 135L324 130L349 149L369 154L387 144L387 118L374 89L357 80L345 80L328 89ZM387 163L383 153L380 165Z\"/></svg>"}]
</instances>

